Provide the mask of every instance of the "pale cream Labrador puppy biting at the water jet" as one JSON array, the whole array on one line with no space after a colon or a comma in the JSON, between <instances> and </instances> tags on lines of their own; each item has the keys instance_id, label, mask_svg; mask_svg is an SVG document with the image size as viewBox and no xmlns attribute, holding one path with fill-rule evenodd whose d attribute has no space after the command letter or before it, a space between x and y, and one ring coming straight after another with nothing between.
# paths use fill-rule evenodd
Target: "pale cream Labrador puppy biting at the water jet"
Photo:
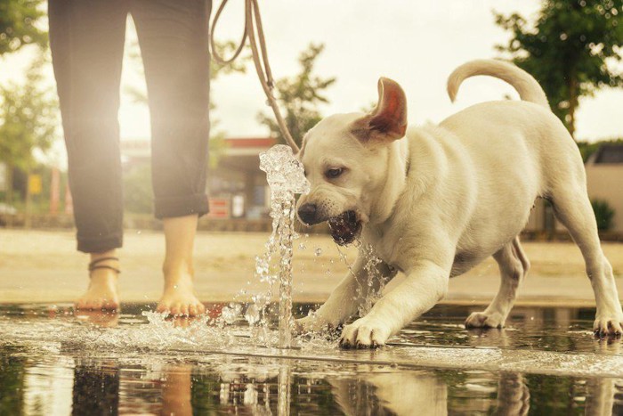
<instances>
[{"instance_id":1,"label":"pale cream Labrador puppy biting at the water jet","mask_svg":"<svg viewBox=\"0 0 623 416\"><path fill-rule=\"evenodd\" d=\"M517 235L538 197L553 204L586 260L597 303L595 331L621 331L623 312L599 243L578 147L535 79L513 65L460 66L449 77L450 98L474 75L505 80L522 101L484 102L440 126L407 133L405 94L381 78L376 110L325 118L303 139L300 158L312 184L299 200L303 223L328 221L341 244L360 234L383 259L381 273L407 275L366 316L344 328L344 347L384 344L444 297L449 277L489 256L502 275L498 295L465 324L502 326L530 265ZM357 311L366 296L360 288L368 288L365 264L358 259L317 315L299 321L301 326L336 326Z\"/></svg>"}]
</instances>

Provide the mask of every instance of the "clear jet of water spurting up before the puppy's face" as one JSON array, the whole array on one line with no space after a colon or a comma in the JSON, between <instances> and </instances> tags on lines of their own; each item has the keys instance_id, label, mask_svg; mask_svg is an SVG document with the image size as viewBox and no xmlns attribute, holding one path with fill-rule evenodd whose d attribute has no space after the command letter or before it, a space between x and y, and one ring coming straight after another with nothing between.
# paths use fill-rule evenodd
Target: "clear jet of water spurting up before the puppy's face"
<instances>
[{"instance_id":1,"label":"clear jet of water spurting up before the puppy's face","mask_svg":"<svg viewBox=\"0 0 623 416\"><path fill-rule=\"evenodd\" d=\"M270 283L271 287L279 281L279 347L289 348L292 347L294 326L292 246L295 240L295 193L309 192L310 184L305 178L303 164L295 158L292 149L284 144L273 146L260 154L260 169L266 172L271 187L272 233L266 242L266 252L255 258L255 274L260 281ZM276 254L279 254L279 273L271 272L271 261ZM255 302L258 313L252 314L252 320L255 320L255 316L261 319L259 310L265 310L270 300L271 293ZM263 305L258 306L260 302Z\"/></svg>"}]
</instances>

